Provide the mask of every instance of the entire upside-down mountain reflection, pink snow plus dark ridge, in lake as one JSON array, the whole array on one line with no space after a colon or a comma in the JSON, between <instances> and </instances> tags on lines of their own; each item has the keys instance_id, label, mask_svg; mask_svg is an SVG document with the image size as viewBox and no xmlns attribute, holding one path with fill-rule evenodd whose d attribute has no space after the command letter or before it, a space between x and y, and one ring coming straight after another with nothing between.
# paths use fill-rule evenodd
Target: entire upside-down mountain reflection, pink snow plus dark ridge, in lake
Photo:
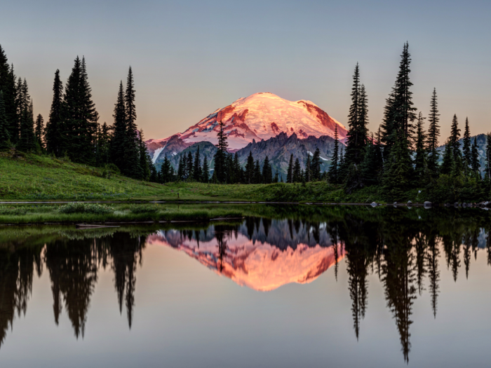
<instances>
[{"instance_id":1,"label":"entire upside-down mountain reflection, pink snow plus dark ridge, in lake","mask_svg":"<svg viewBox=\"0 0 491 368\"><path fill-rule=\"evenodd\" d=\"M269 291L311 282L344 256L332 246L325 225L288 220L247 219L239 226L206 231L159 231L149 244L174 247L238 285Z\"/></svg>"}]
</instances>

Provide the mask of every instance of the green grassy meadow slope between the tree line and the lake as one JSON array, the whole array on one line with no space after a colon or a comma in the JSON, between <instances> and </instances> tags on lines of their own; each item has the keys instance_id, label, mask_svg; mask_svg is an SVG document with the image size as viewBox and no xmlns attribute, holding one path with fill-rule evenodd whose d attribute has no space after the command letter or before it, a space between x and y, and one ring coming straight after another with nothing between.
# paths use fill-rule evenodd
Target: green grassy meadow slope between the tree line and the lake
<instances>
[{"instance_id":1,"label":"green grassy meadow slope between the tree line and the lake","mask_svg":"<svg viewBox=\"0 0 491 368\"><path fill-rule=\"evenodd\" d=\"M408 193L413 202L424 193ZM378 188L351 195L325 182L307 184L156 184L33 154L0 152L0 200L217 200L264 202L370 203L384 200Z\"/></svg>"}]
</instances>

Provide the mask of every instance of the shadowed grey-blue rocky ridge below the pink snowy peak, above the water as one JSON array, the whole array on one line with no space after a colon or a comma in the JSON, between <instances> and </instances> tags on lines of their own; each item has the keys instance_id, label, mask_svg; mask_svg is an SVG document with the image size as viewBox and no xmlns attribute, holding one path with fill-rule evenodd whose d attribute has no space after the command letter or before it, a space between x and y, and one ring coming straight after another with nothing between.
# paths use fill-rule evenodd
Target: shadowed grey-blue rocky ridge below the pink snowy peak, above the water
<instances>
[{"instance_id":1,"label":"shadowed grey-blue rocky ridge below the pink snowy peak, above the water","mask_svg":"<svg viewBox=\"0 0 491 368\"><path fill-rule=\"evenodd\" d=\"M206 156L208 163L210 163L210 168L213 168L213 157L217 151L214 144L210 142L199 142L187 145L178 137L173 138L170 144L159 151L159 156L156 157L154 164L160 170L163 160L167 155L170 163L172 163L174 168L177 168L181 155L187 156L191 152L194 156L198 148L201 161ZM310 136L300 139L295 133L288 136L286 133L281 132L276 137L271 137L267 140L256 142L253 139L253 142L239 149L236 153L243 167L247 162L249 153L252 153L254 159L259 160L261 165L264 162L264 158L268 156L273 172L277 171L279 174L285 175L288 170L288 163L290 162L290 154L293 154L293 161L295 162L295 159L298 158L300 165L304 168L307 156L313 156L317 148L321 151L321 171L328 170L332 151L334 150L334 139L325 135L318 138Z\"/></svg>"}]
</instances>

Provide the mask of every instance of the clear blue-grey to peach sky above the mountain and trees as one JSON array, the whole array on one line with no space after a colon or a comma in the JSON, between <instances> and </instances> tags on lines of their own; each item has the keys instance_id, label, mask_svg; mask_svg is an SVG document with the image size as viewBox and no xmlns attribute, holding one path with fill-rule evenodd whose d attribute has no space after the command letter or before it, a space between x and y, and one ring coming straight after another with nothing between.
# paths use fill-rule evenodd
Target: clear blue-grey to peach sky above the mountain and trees
<instances>
[{"instance_id":1,"label":"clear blue-grey to peach sky above the mountain and trees","mask_svg":"<svg viewBox=\"0 0 491 368\"><path fill-rule=\"evenodd\" d=\"M0 45L48 118L56 69L85 56L100 123L135 77L144 137L183 132L240 97L310 100L346 125L354 67L377 130L405 41L415 107L438 94L441 137L457 114L491 130L491 1L43 1L2 4ZM427 124L426 124L427 125Z\"/></svg>"}]
</instances>

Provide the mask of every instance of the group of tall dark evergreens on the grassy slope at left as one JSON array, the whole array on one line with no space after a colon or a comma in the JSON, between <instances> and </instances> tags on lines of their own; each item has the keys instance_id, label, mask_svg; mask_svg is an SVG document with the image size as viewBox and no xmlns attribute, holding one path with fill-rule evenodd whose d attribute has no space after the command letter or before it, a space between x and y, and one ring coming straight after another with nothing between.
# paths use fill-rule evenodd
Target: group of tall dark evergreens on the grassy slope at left
<instances>
[{"instance_id":1,"label":"group of tall dark evergreens on the grassy slope at left","mask_svg":"<svg viewBox=\"0 0 491 368\"><path fill-rule=\"evenodd\" d=\"M16 79L0 46L0 149L49 154L107 168L135 179L149 179L152 161L136 125L135 82L131 67L126 88L123 82L114 107L114 123L98 123L99 114L88 83L85 57L74 60L65 88L60 70L55 71L53 101L44 124L41 114L34 119L27 81ZM155 170L153 168L153 170Z\"/></svg>"}]
</instances>

